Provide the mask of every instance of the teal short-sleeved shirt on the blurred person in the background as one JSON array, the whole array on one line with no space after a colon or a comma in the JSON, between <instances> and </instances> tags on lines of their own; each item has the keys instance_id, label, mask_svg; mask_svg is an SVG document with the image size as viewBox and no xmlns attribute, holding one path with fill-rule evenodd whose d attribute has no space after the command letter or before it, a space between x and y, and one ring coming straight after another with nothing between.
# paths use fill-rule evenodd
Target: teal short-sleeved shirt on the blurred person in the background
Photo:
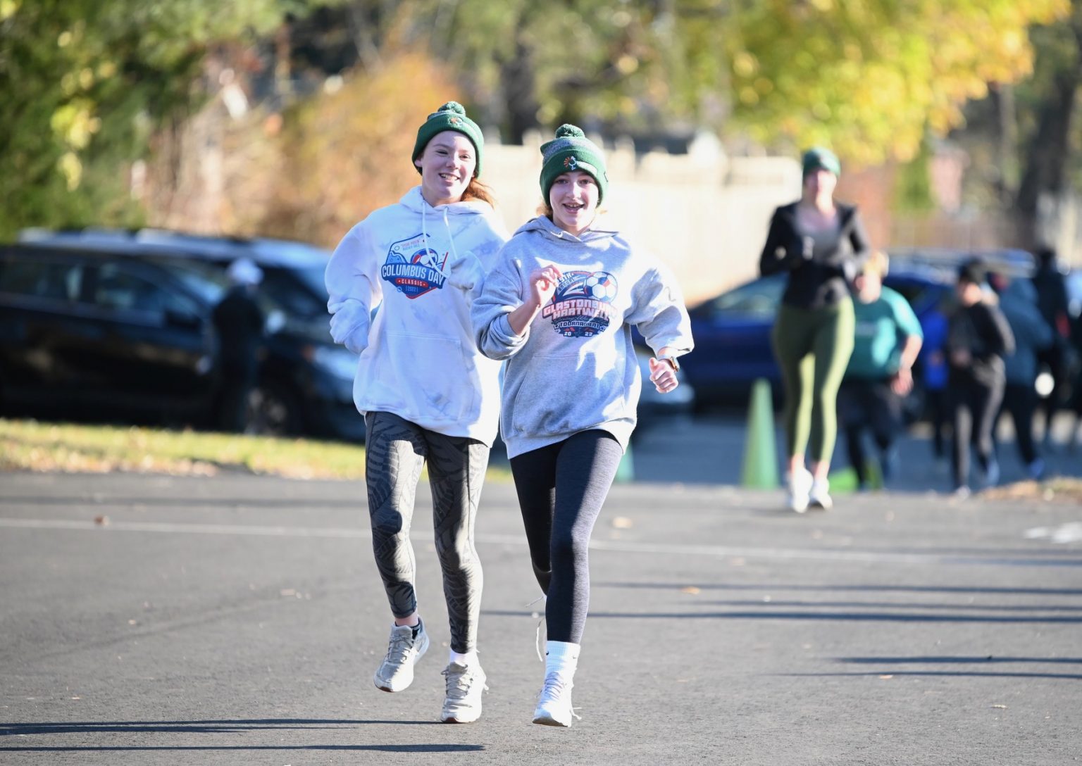
<instances>
[{"instance_id":1,"label":"teal short-sleeved shirt on the blurred person in the background","mask_svg":"<svg viewBox=\"0 0 1082 766\"><path fill-rule=\"evenodd\" d=\"M845 378L883 380L896 374L906 339L924 338L921 322L909 302L898 292L883 287L876 300L863 303L858 296L853 308L856 329Z\"/></svg>"}]
</instances>

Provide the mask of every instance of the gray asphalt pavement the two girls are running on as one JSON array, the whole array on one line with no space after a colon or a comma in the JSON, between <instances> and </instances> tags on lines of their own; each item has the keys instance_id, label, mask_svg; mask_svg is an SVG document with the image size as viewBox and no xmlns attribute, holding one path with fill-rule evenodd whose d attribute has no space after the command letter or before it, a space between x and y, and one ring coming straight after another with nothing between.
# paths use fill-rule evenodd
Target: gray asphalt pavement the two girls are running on
<instances>
[{"instance_id":1,"label":"gray asphalt pavement the two girls are running on","mask_svg":"<svg viewBox=\"0 0 1082 766\"><path fill-rule=\"evenodd\" d=\"M781 500L613 489L565 730L530 724L538 590L510 485L486 488L477 525L485 715L446 726L423 511L434 645L388 695L371 683L390 619L360 484L4 475L0 763L1078 761L1082 509L884 492L796 516Z\"/></svg>"}]
</instances>

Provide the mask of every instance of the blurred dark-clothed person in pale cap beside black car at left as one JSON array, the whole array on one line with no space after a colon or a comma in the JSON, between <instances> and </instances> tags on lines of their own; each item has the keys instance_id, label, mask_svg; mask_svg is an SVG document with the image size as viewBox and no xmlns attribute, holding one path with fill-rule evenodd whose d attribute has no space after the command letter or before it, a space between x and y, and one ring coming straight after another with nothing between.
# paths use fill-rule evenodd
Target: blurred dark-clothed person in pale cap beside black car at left
<instances>
[{"instance_id":1,"label":"blurred dark-clothed person in pale cap beside black car at left","mask_svg":"<svg viewBox=\"0 0 1082 766\"><path fill-rule=\"evenodd\" d=\"M229 289L214 306L211 320L217 332L220 386L217 426L242 433L248 427L249 399L259 379L266 319L256 300L263 269L240 257L226 269Z\"/></svg>"}]
</instances>

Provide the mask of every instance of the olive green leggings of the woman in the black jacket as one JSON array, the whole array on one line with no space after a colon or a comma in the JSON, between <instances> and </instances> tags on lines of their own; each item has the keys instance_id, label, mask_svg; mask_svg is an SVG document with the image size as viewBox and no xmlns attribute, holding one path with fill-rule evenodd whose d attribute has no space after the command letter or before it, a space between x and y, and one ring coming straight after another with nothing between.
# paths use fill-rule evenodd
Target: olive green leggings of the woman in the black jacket
<instances>
[{"instance_id":1,"label":"olive green leggings of the woman in the black jacket","mask_svg":"<svg viewBox=\"0 0 1082 766\"><path fill-rule=\"evenodd\" d=\"M853 354L853 299L826 308L778 308L770 340L786 391L788 455L829 461L837 438L837 388Z\"/></svg>"}]
</instances>

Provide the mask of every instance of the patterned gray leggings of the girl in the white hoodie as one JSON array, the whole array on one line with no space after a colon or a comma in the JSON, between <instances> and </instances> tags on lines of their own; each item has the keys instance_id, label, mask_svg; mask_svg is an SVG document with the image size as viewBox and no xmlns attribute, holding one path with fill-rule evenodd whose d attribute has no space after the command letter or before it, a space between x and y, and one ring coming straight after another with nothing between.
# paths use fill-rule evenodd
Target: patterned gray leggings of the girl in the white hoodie
<instances>
[{"instance_id":1,"label":"patterned gray leggings of the girl in the white hoodie","mask_svg":"<svg viewBox=\"0 0 1082 766\"><path fill-rule=\"evenodd\" d=\"M427 462L451 649L470 651L477 646L484 582L474 549L474 519L489 449L475 439L444 436L390 412L369 412L365 425L372 550L391 611L395 617L417 611L417 565L409 529L417 484Z\"/></svg>"}]
</instances>

